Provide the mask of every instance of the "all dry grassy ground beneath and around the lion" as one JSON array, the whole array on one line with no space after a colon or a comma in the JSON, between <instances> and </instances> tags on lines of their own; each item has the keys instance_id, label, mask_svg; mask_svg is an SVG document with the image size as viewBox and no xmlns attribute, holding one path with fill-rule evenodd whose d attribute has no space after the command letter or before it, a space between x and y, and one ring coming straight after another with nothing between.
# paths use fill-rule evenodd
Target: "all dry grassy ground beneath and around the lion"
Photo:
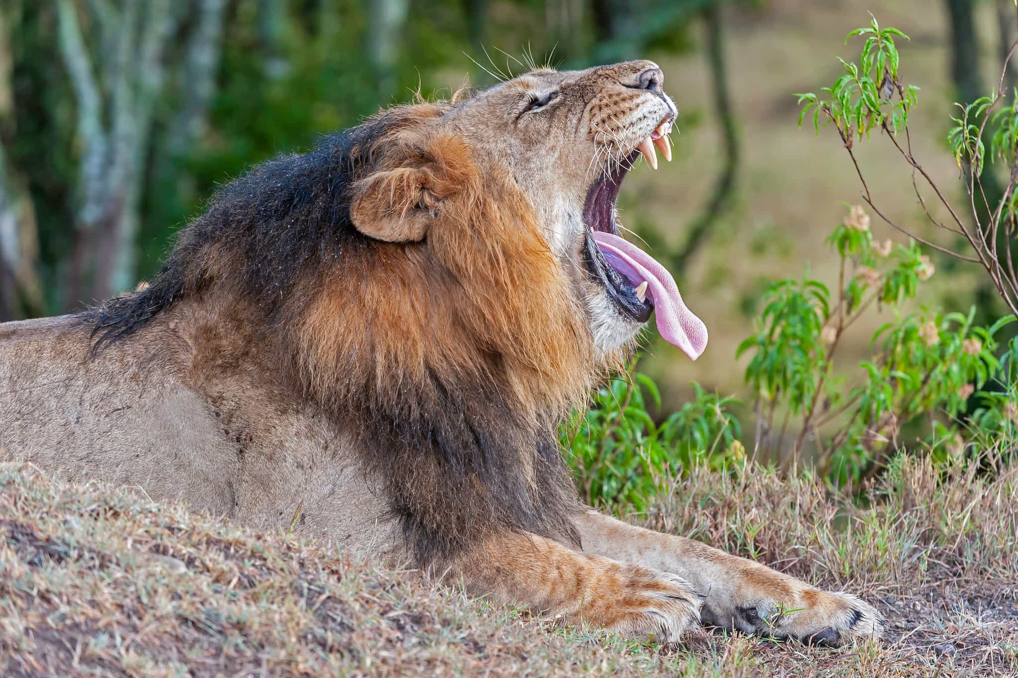
<instances>
[{"instance_id":1,"label":"all dry grassy ground beneath and around the lion","mask_svg":"<svg viewBox=\"0 0 1018 678\"><path fill-rule=\"evenodd\" d=\"M5 464L0 675L1018 675L1018 469L902 458L866 510L752 465L660 490L632 519L859 592L889 637L825 649L701 630L642 645Z\"/></svg>"}]
</instances>

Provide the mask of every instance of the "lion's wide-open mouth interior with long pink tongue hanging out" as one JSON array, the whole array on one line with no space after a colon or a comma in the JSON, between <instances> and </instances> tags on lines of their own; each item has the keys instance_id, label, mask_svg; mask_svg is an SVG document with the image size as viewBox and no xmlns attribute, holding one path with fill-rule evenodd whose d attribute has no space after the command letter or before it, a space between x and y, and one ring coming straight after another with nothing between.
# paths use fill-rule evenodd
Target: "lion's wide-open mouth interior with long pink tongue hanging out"
<instances>
[{"instance_id":1,"label":"lion's wide-open mouth interior with long pink tongue hanging out","mask_svg":"<svg viewBox=\"0 0 1018 678\"><path fill-rule=\"evenodd\" d=\"M619 187L633 161L640 153L646 156L646 151L654 154L651 148L634 150L590 186L583 207L583 223L587 227L584 259L591 275L605 285L623 314L645 323L651 312L657 309L662 338L695 360L706 348L706 326L686 307L668 270L618 234L615 202ZM653 165L656 167L657 163Z\"/></svg>"}]
</instances>

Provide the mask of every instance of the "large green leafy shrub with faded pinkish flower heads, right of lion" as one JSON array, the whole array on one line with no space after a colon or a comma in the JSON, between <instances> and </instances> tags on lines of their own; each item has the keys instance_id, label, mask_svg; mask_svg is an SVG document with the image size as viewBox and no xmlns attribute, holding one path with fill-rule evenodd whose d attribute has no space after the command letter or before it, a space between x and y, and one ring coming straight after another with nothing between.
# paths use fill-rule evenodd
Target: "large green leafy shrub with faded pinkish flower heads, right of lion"
<instances>
[{"instance_id":1,"label":"large green leafy shrub with faded pinkish flower heads, right of lion","mask_svg":"<svg viewBox=\"0 0 1018 678\"><path fill-rule=\"evenodd\" d=\"M756 444L771 455L801 457L815 448L821 471L838 485L872 475L883 458L906 442L903 431L930 420L930 447L955 444L957 416L998 376L997 334L1013 317L991 327L967 315L932 307L905 314L922 281L934 275L929 258L908 245L874 242L869 217L852 207L828 242L841 257L837 289L808 277L782 280L765 293L757 332L736 355L750 353L745 380L756 398ZM842 338L871 304L894 320L870 339L872 355L858 369L835 368ZM980 417L1000 419L1000 394L983 394ZM776 425L777 418L782 422ZM789 427L796 432L785 447Z\"/></svg>"}]
</instances>

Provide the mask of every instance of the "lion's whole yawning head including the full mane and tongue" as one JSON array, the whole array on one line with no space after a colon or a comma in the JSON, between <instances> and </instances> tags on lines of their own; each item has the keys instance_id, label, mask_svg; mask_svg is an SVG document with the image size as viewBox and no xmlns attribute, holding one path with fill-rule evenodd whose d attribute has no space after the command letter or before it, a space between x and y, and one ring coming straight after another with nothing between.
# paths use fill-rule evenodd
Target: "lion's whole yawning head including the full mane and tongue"
<instances>
[{"instance_id":1,"label":"lion's whole yawning head including the full mane and tongue","mask_svg":"<svg viewBox=\"0 0 1018 678\"><path fill-rule=\"evenodd\" d=\"M653 308L691 356L706 342L672 277L618 236L622 178L668 148L662 82L649 61L536 70L266 163L149 287L87 314L96 349L160 315L228 324L242 340L204 354L354 432L422 558L478 529L570 533L558 423Z\"/></svg>"}]
</instances>

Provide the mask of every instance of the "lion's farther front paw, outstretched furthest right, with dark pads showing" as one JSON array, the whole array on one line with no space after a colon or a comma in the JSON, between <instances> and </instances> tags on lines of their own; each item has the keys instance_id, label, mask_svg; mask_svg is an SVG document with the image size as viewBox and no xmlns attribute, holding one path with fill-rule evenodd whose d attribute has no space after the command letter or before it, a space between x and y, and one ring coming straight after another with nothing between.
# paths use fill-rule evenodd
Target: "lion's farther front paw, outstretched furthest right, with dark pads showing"
<instances>
[{"instance_id":1,"label":"lion's farther front paw, outstretched furthest right, with dark pads showing","mask_svg":"<svg viewBox=\"0 0 1018 678\"><path fill-rule=\"evenodd\" d=\"M849 594L804 587L792 604L762 600L735 608L731 614L740 630L808 644L841 645L855 639L878 639L884 617L868 603Z\"/></svg>"}]
</instances>

